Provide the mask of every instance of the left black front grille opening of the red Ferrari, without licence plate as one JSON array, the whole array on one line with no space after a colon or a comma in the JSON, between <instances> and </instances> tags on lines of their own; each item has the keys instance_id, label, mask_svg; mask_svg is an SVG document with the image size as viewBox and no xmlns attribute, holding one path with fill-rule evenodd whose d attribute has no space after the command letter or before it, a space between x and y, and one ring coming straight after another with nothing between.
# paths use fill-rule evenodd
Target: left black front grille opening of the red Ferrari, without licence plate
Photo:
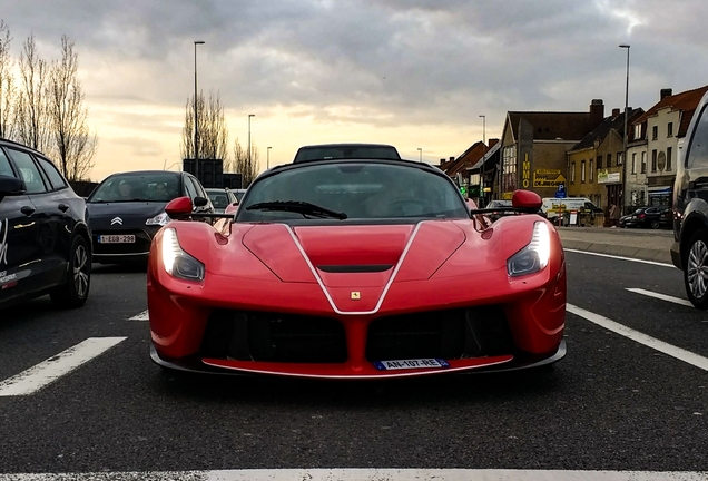
<instances>
[{"instance_id":1,"label":"left black front grille opening of the red Ferrari, without licence plate","mask_svg":"<svg viewBox=\"0 0 708 481\"><path fill-rule=\"evenodd\" d=\"M343 363L344 327L336 320L278 313L217 311L207 323L201 355L238 361Z\"/></svg>"}]
</instances>

